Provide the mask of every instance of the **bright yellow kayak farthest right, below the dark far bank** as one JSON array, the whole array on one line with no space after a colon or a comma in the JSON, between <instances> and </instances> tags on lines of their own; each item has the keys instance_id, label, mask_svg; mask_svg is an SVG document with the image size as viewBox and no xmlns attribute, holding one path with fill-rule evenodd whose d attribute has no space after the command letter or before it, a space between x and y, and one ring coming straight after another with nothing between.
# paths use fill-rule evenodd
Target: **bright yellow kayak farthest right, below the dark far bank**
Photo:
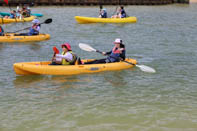
<instances>
[{"instance_id":1,"label":"bright yellow kayak farthest right, below the dark far bank","mask_svg":"<svg viewBox=\"0 0 197 131\"><path fill-rule=\"evenodd\" d=\"M96 17L75 16L75 19L80 24L86 24L86 23L135 23L135 22L137 22L136 17L96 18Z\"/></svg>"}]
</instances>

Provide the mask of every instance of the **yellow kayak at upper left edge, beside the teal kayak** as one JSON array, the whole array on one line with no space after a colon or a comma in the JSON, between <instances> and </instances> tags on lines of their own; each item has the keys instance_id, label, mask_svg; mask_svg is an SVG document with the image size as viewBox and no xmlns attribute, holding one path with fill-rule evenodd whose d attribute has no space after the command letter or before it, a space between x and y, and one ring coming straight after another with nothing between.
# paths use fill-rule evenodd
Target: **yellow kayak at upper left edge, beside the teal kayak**
<instances>
[{"instance_id":1,"label":"yellow kayak at upper left edge, beside the teal kayak","mask_svg":"<svg viewBox=\"0 0 197 131\"><path fill-rule=\"evenodd\" d=\"M35 19L35 16L30 16L22 19L7 19L7 18L0 18L0 24L8 24L8 23L17 23L17 22L29 22Z\"/></svg>"}]
</instances>

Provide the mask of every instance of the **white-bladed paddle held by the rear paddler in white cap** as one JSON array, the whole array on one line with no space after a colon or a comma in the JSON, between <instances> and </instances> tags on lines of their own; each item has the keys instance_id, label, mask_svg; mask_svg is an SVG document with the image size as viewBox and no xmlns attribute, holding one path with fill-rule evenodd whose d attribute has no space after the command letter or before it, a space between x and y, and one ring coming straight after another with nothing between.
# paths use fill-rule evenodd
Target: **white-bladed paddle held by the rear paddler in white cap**
<instances>
[{"instance_id":1,"label":"white-bladed paddle held by the rear paddler in white cap","mask_svg":"<svg viewBox=\"0 0 197 131\"><path fill-rule=\"evenodd\" d=\"M93 47L91 47L90 45L88 44L84 44L84 43L79 43L79 47L82 49L82 50L85 50L85 51L89 51L89 52L98 52L100 54L103 54L101 51L99 50L96 50L94 49ZM128 64L131 64L131 65L135 65L136 67L140 68L140 70L144 71L144 72L149 72L149 73L155 73L155 69L151 68L151 67L148 67L148 66L145 66L145 65L138 65L138 64L133 64L131 62L128 62L128 61L124 61L122 60L123 62L125 63L128 63Z\"/></svg>"}]
</instances>

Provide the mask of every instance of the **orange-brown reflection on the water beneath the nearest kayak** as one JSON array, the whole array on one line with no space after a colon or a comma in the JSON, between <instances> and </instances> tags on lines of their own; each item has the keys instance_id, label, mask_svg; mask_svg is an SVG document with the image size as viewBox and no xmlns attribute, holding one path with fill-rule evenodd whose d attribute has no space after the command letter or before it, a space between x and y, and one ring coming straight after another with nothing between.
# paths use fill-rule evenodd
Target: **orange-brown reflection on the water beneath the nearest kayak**
<instances>
[{"instance_id":1,"label":"orange-brown reflection on the water beneath the nearest kayak","mask_svg":"<svg viewBox=\"0 0 197 131\"><path fill-rule=\"evenodd\" d=\"M79 76L44 76L44 75L28 75L16 76L13 81L15 88L76 88L79 87L81 80Z\"/></svg>"}]
</instances>

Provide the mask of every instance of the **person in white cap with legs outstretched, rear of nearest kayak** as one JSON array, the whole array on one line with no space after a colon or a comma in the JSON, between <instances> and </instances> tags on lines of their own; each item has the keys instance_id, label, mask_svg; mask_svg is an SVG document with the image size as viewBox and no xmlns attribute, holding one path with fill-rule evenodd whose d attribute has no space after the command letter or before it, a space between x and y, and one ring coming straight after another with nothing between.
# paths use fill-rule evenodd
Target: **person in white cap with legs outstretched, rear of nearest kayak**
<instances>
[{"instance_id":1,"label":"person in white cap with legs outstretched, rear of nearest kayak","mask_svg":"<svg viewBox=\"0 0 197 131\"><path fill-rule=\"evenodd\" d=\"M94 60L90 62L85 62L84 64L101 64L101 63L112 63L119 62L120 60L125 60L125 45L122 40L117 38L114 41L115 46L109 52L102 52L104 56L108 55L105 59Z\"/></svg>"}]
</instances>

